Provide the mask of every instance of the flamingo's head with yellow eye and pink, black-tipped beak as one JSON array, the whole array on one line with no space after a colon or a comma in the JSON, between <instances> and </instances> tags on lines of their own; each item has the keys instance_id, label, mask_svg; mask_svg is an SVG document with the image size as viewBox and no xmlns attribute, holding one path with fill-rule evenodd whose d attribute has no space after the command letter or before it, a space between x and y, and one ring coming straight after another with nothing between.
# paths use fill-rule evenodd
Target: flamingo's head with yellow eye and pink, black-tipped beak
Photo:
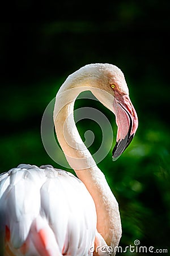
<instances>
[{"instance_id":1,"label":"flamingo's head with yellow eye and pink, black-tipped beak","mask_svg":"<svg viewBox=\"0 0 170 256\"><path fill-rule=\"evenodd\" d=\"M122 71L112 64L100 64L97 72L95 96L116 116L117 138L113 148L116 160L129 146L138 127L138 117L129 98L129 90Z\"/></svg>"}]
</instances>

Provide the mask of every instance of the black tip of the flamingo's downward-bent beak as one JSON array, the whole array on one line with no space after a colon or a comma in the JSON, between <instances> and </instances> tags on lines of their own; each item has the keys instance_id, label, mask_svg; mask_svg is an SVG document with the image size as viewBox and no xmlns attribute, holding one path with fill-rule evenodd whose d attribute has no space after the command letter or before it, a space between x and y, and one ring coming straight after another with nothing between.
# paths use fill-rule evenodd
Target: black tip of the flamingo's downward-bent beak
<instances>
[{"instance_id":1,"label":"black tip of the flamingo's downward-bent beak","mask_svg":"<svg viewBox=\"0 0 170 256\"><path fill-rule=\"evenodd\" d=\"M134 134L130 135L130 137L127 134L124 139L116 142L116 145L114 146L113 151L112 151L113 161L116 161L121 156L122 152L124 152L125 149L129 146L133 137L134 137Z\"/></svg>"}]
</instances>

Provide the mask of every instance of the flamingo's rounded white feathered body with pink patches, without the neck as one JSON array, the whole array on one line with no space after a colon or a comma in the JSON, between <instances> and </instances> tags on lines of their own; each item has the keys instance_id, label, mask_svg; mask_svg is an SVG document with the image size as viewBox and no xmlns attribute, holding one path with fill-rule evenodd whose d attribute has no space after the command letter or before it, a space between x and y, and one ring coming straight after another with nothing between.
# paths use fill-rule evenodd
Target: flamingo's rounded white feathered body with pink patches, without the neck
<instances>
[{"instance_id":1,"label":"flamingo's rounded white feathered body with pink patches, without the neck","mask_svg":"<svg viewBox=\"0 0 170 256\"><path fill-rule=\"evenodd\" d=\"M92 255L95 204L73 174L20 164L1 175L0 191L6 247L14 255Z\"/></svg>"}]
</instances>

